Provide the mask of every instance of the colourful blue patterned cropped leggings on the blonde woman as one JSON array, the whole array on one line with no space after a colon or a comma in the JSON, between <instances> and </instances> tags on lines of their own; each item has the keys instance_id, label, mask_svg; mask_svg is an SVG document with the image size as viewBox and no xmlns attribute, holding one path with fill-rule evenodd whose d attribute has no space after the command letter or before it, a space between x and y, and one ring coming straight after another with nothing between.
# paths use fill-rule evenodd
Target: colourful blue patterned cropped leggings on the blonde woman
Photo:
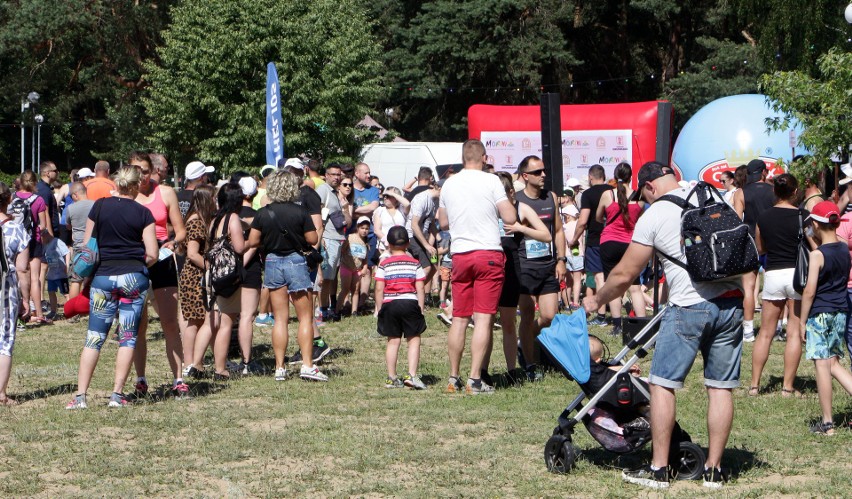
<instances>
[{"instance_id":1,"label":"colourful blue patterned cropped leggings on the blonde woman","mask_svg":"<svg viewBox=\"0 0 852 499\"><path fill-rule=\"evenodd\" d=\"M136 347L136 334L148 292L148 277L141 272L96 276L92 280L86 348L100 350L118 310L118 345Z\"/></svg>"}]
</instances>

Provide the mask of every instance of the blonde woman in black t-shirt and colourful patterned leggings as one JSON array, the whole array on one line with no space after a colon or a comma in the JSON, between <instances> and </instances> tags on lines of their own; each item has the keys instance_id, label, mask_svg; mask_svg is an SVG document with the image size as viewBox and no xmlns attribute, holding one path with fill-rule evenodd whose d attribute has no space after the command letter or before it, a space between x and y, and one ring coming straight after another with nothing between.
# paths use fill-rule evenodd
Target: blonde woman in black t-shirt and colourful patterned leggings
<instances>
[{"instance_id":1,"label":"blonde woman in black t-shirt and colourful patterned leggings","mask_svg":"<svg viewBox=\"0 0 852 499\"><path fill-rule=\"evenodd\" d=\"M118 354L110 407L127 405L124 384L130 374L142 308L148 291L148 266L157 261L157 237L151 212L135 201L140 172L124 167L115 177L118 195L95 202L86 222L84 244L97 226L100 263L91 285L89 327L80 355L77 395L66 409L86 409L86 392L101 347L118 311Z\"/></svg>"}]
</instances>

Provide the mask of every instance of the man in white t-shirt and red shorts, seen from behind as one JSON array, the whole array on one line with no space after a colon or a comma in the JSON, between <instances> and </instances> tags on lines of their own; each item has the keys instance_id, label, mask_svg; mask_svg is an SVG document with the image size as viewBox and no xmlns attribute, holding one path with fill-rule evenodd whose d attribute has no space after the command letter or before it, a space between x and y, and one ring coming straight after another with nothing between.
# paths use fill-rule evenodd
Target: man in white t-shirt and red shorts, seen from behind
<instances>
[{"instance_id":1,"label":"man in white t-shirt and red shorts, seen from behind","mask_svg":"<svg viewBox=\"0 0 852 499\"><path fill-rule=\"evenodd\" d=\"M461 172L447 179L441 189L438 220L450 231L453 255L453 323L448 337L450 379L447 392L490 394L494 387L481 379L482 361L491 341L494 314L503 287L506 256L500 245L499 219L515 223L515 207L506 198L496 175L482 171L485 146L476 139L462 146ZM459 378L465 331L474 318L470 377Z\"/></svg>"}]
</instances>

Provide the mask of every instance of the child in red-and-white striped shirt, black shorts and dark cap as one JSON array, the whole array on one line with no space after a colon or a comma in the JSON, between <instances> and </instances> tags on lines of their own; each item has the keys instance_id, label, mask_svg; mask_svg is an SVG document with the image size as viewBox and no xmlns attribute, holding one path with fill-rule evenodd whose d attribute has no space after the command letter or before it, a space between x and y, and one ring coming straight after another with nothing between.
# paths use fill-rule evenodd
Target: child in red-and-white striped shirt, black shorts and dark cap
<instances>
[{"instance_id":1,"label":"child in red-and-white striped shirt, black shorts and dark cap","mask_svg":"<svg viewBox=\"0 0 852 499\"><path fill-rule=\"evenodd\" d=\"M376 269L378 332L388 339L385 350L388 378L385 380L385 388L405 385L415 390L425 390L426 385L417 374L417 367L420 363L420 335L426 330L426 319L423 317L426 273L420 263L406 253L409 239L405 227L392 227L388 231L387 241L390 256L379 263ZM403 335L408 341L408 374L400 382L396 376L396 361Z\"/></svg>"}]
</instances>

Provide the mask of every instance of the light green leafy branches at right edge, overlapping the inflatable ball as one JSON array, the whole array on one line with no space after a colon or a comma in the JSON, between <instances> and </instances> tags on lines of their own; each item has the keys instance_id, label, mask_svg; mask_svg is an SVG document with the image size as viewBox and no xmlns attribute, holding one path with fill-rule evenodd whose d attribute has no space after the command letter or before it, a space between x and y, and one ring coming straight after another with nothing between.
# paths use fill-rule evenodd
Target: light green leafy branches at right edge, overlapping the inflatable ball
<instances>
[{"instance_id":1,"label":"light green leafy branches at right edge, overlapping the inflatable ball","mask_svg":"<svg viewBox=\"0 0 852 499\"><path fill-rule=\"evenodd\" d=\"M805 128L799 144L807 147L821 167L831 156L852 144L852 52L830 50L818 61L819 77L803 71L777 71L764 75L761 89L770 106L783 117L767 120L767 126L786 130L792 118Z\"/></svg>"}]
</instances>

